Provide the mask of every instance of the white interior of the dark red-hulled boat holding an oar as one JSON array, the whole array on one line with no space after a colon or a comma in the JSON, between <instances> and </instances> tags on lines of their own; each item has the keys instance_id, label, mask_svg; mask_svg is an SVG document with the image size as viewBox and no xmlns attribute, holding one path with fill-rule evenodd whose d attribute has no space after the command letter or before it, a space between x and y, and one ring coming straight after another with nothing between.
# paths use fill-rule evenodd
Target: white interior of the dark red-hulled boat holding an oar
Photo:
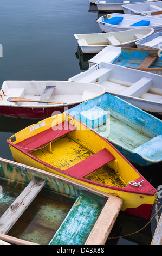
<instances>
[{"instance_id":1,"label":"white interior of the dark red-hulled boat holding an oar","mask_svg":"<svg viewBox=\"0 0 162 256\"><path fill-rule=\"evenodd\" d=\"M0 90L0 105L58 106L42 102L11 102L9 97L21 97L36 101L51 101L72 104L93 99L105 93L105 88L97 84L72 83L68 81L4 81Z\"/></svg>"}]
</instances>

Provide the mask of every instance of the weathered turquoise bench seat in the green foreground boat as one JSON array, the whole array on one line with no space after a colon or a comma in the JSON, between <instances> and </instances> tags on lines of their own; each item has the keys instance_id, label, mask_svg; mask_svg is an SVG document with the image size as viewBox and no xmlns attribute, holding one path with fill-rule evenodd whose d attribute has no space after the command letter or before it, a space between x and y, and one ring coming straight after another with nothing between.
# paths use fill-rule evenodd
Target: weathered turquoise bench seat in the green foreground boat
<instances>
[{"instance_id":1,"label":"weathered turquoise bench seat in the green foreground boat","mask_svg":"<svg viewBox=\"0 0 162 256\"><path fill-rule=\"evenodd\" d=\"M101 209L94 199L80 194L49 245L83 245Z\"/></svg>"}]
</instances>

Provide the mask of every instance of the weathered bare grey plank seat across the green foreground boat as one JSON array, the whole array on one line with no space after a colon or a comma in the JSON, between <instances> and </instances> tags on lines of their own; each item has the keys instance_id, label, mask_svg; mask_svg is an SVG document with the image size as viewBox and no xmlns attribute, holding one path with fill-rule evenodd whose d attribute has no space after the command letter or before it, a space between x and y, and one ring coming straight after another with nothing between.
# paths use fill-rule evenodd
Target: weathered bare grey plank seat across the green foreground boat
<instances>
[{"instance_id":1,"label":"weathered bare grey plank seat across the green foreground boat","mask_svg":"<svg viewBox=\"0 0 162 256\"><path fill-rule=\"evenodd\" d=\"M46 180L36 177L30 181L28 186L25 187L14 203L11 204L0 218L0 233L8 233L45 184Z\"/></svg>"}]
</instances>

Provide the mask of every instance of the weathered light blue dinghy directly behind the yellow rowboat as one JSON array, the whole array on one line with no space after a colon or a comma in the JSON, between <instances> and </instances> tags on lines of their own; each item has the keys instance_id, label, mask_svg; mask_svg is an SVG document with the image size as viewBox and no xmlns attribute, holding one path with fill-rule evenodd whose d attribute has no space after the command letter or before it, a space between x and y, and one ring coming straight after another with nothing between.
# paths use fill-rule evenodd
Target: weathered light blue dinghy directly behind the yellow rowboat
<instances>
[{"instance_id":1,"label":"weathered light blue dinghy directly behind the yellow rowboat","mask_svg":"<svg viewBox=\"0 0 162 256\"><path fill-rule=\"evenodd\" d=\"M162 161L162 121L119 97L107 93L65 113L98 132L133 164L147 166ZM107 120L101 118L104 113ZM99 115L99 123L94 125Z\"/></svg>"}]
</instances>

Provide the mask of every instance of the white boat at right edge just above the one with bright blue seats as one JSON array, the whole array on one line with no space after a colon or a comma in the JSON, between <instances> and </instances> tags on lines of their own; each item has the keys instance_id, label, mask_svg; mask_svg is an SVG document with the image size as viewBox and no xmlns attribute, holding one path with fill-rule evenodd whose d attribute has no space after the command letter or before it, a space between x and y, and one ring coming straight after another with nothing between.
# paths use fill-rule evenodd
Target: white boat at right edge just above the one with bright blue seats
<instances>
[{"instance_id":1,"label":"white boat at right edge just above the one with bright blue seats","mask_svg":"<svg viewBox=\"0 0 162 256\"><path fill-rule=\"evenodd\" d=\"M156 1L154 3L134 3L122 5L125 14L136 14L144 16L153 16L157 18L162 17L162 2Z\"/></svg>"}]
</instances>

